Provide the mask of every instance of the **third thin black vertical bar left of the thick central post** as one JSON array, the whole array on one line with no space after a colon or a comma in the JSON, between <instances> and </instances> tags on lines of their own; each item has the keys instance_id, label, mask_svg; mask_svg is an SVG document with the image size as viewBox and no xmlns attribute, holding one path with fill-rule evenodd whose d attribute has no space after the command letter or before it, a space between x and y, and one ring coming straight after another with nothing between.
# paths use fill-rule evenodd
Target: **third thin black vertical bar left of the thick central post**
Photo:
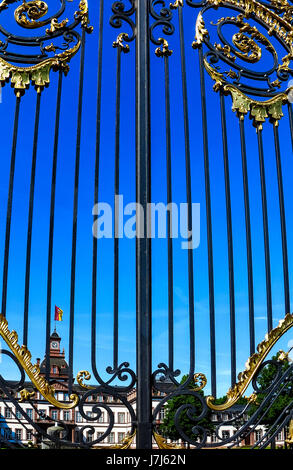
<instances>
[{"instance_id":1,"label":"third thin black vertical bar left of the thick central post","mask_svg":"<svg viewBox=\"0 0 293 470\"><path fill-rule=\"evenodd\" d=\"M76 154L75 154L75 175L74 175L74 199L73 199L73 220L72 220L72 250L71 250L71 282L70 282L70 318L69 318L69 385L71 393L73 383L73 340L74 340L74 307L75 307L75 271L76 271L76 237L77 237L77 215L78 215L78 189L79 189L79 166L80 166L80 141L82 124L83 105L83 84L84 84L84 57L85 57L85 28L82 30L80 69L79 69L79 90L77 109L77 131L76 131Z\"/></svg>"}]
</instances>

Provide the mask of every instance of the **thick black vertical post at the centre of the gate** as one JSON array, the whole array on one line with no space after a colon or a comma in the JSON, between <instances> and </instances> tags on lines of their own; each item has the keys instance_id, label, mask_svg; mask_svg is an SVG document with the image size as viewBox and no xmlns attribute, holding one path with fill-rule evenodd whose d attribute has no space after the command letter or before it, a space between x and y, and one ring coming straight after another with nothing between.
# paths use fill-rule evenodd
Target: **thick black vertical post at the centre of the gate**
<instances>
[{"instance_id":1,"label":"thick black vertical post at the centre of the gate","mask_svg":"<svg viewBox=\"0 0 293 470\"><path fill-rule=\"evenodd\" d=\"M136 0L137 448L152 447L149 0Z\"/></svg>"}]
</instances>

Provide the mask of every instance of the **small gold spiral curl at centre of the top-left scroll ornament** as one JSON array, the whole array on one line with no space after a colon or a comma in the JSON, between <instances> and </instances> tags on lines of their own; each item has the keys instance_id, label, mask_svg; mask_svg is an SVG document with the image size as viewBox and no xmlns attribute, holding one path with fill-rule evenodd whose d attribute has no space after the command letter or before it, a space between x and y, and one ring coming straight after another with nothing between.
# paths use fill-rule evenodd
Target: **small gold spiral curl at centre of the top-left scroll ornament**
<instances>
[{"instance_id":1,"label":"small gold spiral curl at centre of the top-left scroll ornament","mask_svg":"<svg viewBox=\"0 0 293 470\"><path fill-rule=\"evenodd\" d=\"M47 3L39 0L23 2L14 12L15 21L24 28L39 28L44 24L37 21L48 12Z\"/></svg>"}]
</instances>

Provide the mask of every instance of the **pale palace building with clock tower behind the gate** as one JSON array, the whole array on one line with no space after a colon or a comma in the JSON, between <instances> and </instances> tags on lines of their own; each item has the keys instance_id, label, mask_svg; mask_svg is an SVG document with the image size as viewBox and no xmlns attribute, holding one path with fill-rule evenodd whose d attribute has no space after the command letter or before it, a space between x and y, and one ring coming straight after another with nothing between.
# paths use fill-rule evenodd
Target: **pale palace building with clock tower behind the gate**
<instances>
[{"instance_id":1,"label":"pale palace building with clock tower behind the gate","mask_svg":"<svg viewBox=\"0 0 293 470\"><path fill-rule=\"evenodd\" d=\"M69 401L68 384L69 384L69 367L65 360L64 349L61 350L61 338L56 330L50 336L50 383L55 388L55 397L60 402L66 403ZM45 376L46 370L46 358L42 362L37 359L37 363L40 366L41 374ZM29 392L33 392L31 382L25 382L24 388ZM166 391L168 390L168 384L166 384ZM73 393L82 395L85 393L79 384L73 384ZM154 392L153 396L153 407L157 406L165 396L164 392ZM19 393L18 393L18 397ZM136 391L127 393L127 401L132 405L134 411L136 408ZM93 405L100 404L101 414L97 418L97 413L93 411ZM59 409L45 401L43 396L39 392L35 392L29 401L19 402L19 406L24 410L27 416L37 425L39 429L42 429L47 434L52 434L54 431L58 431L60 437L62 433L66 432L66 440L70 440L74 443L80 442L80 433L82 432L83 439L87 442L92 442L103 436L109 428L109 412L111 409L112 417L114 418L114 426L111 432L100 441L98 447L115 447L125 442L127 436L131 432L131 416L129 410L123 405L120 400L116 400L114 397L100 394L100 395L89 395L84 405L84 414L88 417L86 419L78 409ZM218 430L218 435L221 439L227 439L231 437L237 429L235 426L230 424L233 417L241 412L241 405L234 405L228 411L215 412L212 414L211 419L215 425L221 423ZM91 419L93 418L93 419ZM248 419L244 415L244 419ZM164 409L161 410L157 422L160 425L164 419ZM245 439L239 441L239 446L250 446L261 439L265 432L264 426L259 425L256 429ZM15 405L9 401L2 394L0 401L0 447L2 442L11 441L14 444L19 445L30 445L38 446L42 448L52 447L52 442L42 437L41 433L38 433L35 427L24 418L22 413L16 409ZM208 442L216 443L218 437L216 433L212 434L208 438ZM179 441L176 443L183 447L183 444ZM284 444L284 435L280 433L276 439L276 445ZM135 447L135 437L132 443ZM154 447L157 444L154 441Z\"/></svg>"}]
</instances>

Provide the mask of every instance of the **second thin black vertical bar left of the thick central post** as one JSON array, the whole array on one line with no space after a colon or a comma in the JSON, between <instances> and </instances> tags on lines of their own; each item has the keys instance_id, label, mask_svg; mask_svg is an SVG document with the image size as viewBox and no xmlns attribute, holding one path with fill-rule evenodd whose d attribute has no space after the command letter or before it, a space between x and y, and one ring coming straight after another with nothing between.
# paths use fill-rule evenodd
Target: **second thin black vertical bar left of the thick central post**
<instances>
[{"instance_id":1,"label":"second thin black vertical bar left of the thick central post","mask_svg":"<svg viewBox=\"0 0 293 470\"><path fill-rule=\"evenodd\" d=\"M97 121L96 121L96 156L94 180L94 205L99 201L99 168L100 168L100 136L101 136L101 92L102 92L102 63L103 63L103 21L104 0L100 1L99 12L99 45L98 45L98 75L97 75ZM97 319L97 237L93 236L93 265L92 265L92 324L91 324L91 363L94 376L99 380L96 362L96 319Z\"/></svg>"}]
</instances>

